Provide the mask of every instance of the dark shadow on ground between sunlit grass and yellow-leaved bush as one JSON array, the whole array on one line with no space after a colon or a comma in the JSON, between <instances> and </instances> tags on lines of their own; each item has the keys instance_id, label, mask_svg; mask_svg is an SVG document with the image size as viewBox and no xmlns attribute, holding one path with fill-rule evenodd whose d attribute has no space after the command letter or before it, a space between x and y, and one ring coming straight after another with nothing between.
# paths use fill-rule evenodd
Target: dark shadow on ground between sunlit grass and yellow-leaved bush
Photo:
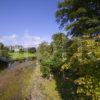
<instances>
[{"instance_id":1,"label":"dark shadow on ground between sunlit grass and yellow-leaved bush","mask_svg":"<svg viewBox=\"0 0 100 100\"><path fill-rule=\"evenodd\" d=\"M69 79L63 78L62 75L54 74L54 79L57 84L57 91L59 91L62 100L75 100L76 85Z\"/></svg>"}]
</instances>

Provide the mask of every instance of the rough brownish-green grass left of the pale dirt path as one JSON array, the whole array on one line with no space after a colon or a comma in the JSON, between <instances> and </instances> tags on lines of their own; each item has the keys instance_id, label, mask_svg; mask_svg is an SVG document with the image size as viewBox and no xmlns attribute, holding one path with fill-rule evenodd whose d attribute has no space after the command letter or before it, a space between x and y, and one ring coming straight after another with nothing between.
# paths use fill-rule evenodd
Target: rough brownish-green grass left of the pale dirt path
<instances>
[{"instance_id":1,"label":"rough brownish-green grass left of the pale dirt path","mask_svg":"<svg viewBox=\"0 0 100 100\"><path fill-rule=\"evenodd\" d=\"M24 100L32 88L33 72L32 66L20 64L0 73L0 100Z\"/></svg>"}]
</instances>

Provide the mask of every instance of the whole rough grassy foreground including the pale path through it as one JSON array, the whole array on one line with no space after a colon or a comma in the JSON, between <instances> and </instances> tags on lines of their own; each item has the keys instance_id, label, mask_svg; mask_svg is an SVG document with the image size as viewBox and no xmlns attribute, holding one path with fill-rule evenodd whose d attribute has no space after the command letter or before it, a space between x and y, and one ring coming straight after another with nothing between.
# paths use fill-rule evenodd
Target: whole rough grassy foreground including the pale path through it
<instances>
[{"instance_id":1,"label":"whole rough grassy foreground including the pale path through it","mask_svg":"<svg viewBox=\"0 0 100 100\"><path fill-rule=\"evenodd\" d=\"M29 66L32 63L24 62L0 73L0 100L24 100L30 95L32 100L61 100L56 81L42 78L39 67Z\"/></svg>"}]
</instances>

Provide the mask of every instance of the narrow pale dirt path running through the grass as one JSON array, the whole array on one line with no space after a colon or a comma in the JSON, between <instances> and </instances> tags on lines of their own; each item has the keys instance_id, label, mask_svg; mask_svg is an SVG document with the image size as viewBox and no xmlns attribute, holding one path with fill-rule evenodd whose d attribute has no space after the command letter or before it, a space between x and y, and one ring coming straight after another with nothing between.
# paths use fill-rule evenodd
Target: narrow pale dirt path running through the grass
<instances>
[{"instance_id":1,"label":"narrow pale dirt path running through the grass","mask_svg":"<svg viewBox=\"0 0 100 100\"><path fill-rule=\"evenodd\" d=\"M41 77L39 68L36 68L35 72L33 73L33 87L30 91L30 95L26 98L26 100L45 100L45 96L41 91L43 80L44 79Z\"/></svg>"}]
</instances>

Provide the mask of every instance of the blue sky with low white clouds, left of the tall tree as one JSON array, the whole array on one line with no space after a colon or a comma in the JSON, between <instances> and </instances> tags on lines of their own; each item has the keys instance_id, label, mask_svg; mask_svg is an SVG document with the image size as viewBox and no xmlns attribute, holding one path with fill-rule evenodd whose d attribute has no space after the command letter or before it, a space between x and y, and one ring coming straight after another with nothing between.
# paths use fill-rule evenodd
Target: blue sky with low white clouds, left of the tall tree
<instances>
[{"instance_id":1,"label":"blue sky with low white clouds, left of the tall tree","mask_svg":"<svg viewBox=\"0 0 100 100\"><path fill-rule=\"evenodd\" d=\"M0 0L0 42L37 46L59 32L58 0Z\"/></svg>"}]
</instances>

